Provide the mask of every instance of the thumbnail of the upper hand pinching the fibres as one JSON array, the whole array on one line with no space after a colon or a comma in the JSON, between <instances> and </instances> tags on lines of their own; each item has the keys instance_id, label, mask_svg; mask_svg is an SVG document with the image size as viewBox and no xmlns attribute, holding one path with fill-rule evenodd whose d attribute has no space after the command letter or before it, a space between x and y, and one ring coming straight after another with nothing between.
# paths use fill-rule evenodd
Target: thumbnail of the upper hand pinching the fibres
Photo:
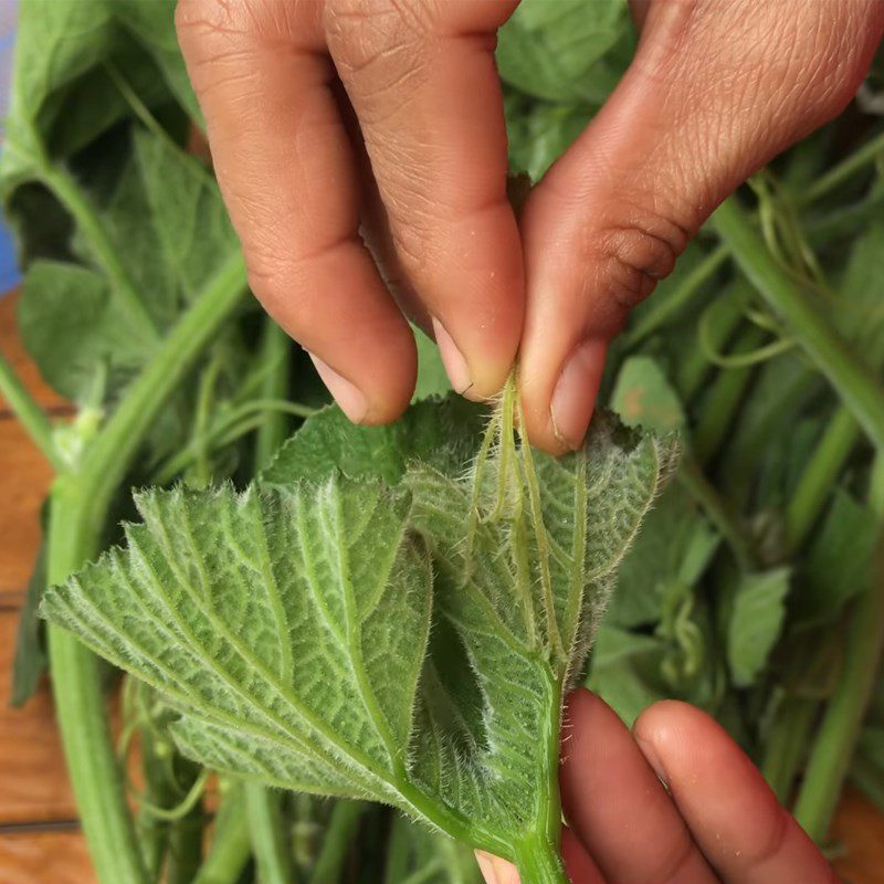
<instances>
[{"instance_id":1,"label":"thumbnail of the upper hand pinching the fibres","mask_svg":"<svg viewBox=\"0 0 884 884\"><path fill-rule=\"evenodd\" d=\"M576 451L583 444L604 369L608 348L600 338L580 344L565 361L552 390L549 412L558 439Z\"/></svg>"}]
</instances>

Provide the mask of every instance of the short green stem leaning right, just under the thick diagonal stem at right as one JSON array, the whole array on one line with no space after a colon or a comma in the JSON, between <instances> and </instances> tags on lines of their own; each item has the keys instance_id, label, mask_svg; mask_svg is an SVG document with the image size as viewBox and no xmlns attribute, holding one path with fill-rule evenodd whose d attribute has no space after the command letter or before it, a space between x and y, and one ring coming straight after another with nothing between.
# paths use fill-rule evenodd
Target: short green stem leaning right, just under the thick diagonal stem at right
<instances>
[{"instance_id":1,"label":"short green stem leaning right, just under the thick diagonal stem at right","mask_svg":"<svg viewBox=\"0 0 884 884\"><path fill-rule=\"evenodd\" d=\"M860 427L843 406L829 421L813 454L804 467L798 487L786 511L786 543L791 550L800 548L820 516L832 483L850 456Z\"/></svg>"}]
</instances>

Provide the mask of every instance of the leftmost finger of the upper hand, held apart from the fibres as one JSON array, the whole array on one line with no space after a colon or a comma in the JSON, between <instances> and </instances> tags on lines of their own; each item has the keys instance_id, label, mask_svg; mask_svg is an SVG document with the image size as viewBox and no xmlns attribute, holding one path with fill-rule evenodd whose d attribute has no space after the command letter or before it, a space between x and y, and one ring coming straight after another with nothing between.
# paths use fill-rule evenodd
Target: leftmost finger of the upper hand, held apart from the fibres
<instances>
[{"instance_id":1,"label":"leftmost finger of the upper hand, held apart from the fibres","mask_svg":"<svg viewBox=\"0 0 884 884\"><path fill-rule=\"evenodd\" d=\"M348 417L383 423L411 398L417 352L359 238L322 10L313 0L182 0L176 24L252 291Z\"/></svg>"}]
</instances>

